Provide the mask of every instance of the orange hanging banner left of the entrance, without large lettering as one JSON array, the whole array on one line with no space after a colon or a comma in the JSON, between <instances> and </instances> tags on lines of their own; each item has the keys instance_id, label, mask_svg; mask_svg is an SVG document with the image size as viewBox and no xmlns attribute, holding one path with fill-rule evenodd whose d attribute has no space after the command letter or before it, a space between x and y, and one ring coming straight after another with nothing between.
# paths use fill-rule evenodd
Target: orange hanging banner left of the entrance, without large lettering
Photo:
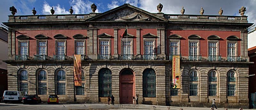
<instances>
[{"instance_id":1,"label":"orange hanging banner left of the entrance, without large lettering","mask_svg":"<svg viewBox=\"0 0 256 110\"><path fill-rule=\"evenodd\" d=\"M81 55L74 55L74 82L75 86L82 86Z\"/></svg>"}]
</instances>

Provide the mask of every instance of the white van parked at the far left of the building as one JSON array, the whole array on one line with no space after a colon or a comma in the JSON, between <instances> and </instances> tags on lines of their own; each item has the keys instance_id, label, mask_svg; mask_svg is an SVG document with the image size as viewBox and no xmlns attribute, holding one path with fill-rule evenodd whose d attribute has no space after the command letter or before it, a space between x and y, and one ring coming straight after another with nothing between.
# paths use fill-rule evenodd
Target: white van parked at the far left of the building
<instances>
[{"instance_id":1,"label":"white van parked at the far left of the building","mask_svg":"<svg viewBox=\"0 0 256 110\"><path fill-rule=\"evenodd\" d=\"M23 91L5 90L3 95L4 103L8 102L21 102L25 94Z\"/></svg>"}]
</instances>

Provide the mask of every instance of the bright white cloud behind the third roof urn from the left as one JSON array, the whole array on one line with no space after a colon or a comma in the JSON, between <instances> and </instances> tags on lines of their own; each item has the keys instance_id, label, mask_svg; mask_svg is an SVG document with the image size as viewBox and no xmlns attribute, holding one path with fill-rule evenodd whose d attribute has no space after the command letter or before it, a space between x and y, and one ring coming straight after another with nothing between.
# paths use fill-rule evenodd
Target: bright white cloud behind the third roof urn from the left
<instances>
[{"instance_id":1,"label":"bright white cloud behind the third roof urn from the left","mask_svg":"<svg viewBox=\"0 0 256 110\"><path fill-rule=\"evenodd\" d=\"M55 11L54 14L68 14L69 12L66 11L64 7L60 7L60 4L57 4L57 6L50 6L46 1L44 1L43 5L43 14L51 14L51 9L53 7L53 10Z\"/></svg>"}]
</instances>

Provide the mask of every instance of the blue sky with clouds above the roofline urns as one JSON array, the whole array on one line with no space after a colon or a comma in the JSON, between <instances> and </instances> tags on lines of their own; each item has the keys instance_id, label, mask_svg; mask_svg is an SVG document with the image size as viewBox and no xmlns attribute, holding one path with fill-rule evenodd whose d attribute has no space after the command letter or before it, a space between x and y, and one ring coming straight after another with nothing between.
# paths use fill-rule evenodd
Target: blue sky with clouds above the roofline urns
<instances>
[{"instance_id":1,"label":"blue sky with clouds above the roofline urns","mask_svg":"<svg viewBox=\"0 0 256 110\"><path fill-rule=\"evenodd\" d=\"M0 22L7 22L8 15L11 14L9 7L15 6L16 15L31 15L31 10L35 7L36 14L50 14L51 7L55 14L69 14L68 10L72 6L74 14L90 13L90 5L97 5L96 12L106 12L124 3L129 3L148 12L157 12L156 6L164 5L163 11L168 14L180 14L181 7L184 6L185 14L200 14L201 7L206 15L218 15L220 7L223 15L238 15L241 6L245 6L250 23L256 22L256 0L2 0L0 4Z\"/></svg>"}]
</instances>

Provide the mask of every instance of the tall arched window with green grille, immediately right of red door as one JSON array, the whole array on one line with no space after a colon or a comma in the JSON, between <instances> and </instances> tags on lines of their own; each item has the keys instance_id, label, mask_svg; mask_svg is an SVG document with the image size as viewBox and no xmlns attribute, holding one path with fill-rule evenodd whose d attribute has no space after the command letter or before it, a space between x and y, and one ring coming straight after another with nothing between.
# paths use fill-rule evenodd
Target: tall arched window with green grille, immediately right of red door
<instances>
[{"instance_id":1,"label":"tall arched window with green grille, immediately right of red door","mask_svg":"<svg viewBox=\"0 0 256 110\"><path fill-rule=\"evenodd\" d=\"M143 71L143 97L156 97L156 72L152 68Z\"/></svg>"}]
</instances>

